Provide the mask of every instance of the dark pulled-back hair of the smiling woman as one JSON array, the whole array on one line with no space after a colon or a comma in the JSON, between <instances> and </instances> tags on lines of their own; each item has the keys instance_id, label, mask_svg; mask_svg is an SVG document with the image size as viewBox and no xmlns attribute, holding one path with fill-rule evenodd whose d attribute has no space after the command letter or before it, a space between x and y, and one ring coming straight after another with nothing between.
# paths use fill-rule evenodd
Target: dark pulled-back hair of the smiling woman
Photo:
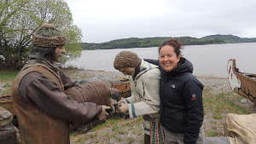
<instances>
[{"instance_id":1,"label":"dark pulled-back hair of the smiling woman","mask_svg":"<svg viewBox=\"0 0 256 144\"><path fill-rule=\"evenodd\" d=\"M182 43L179 42L177 39L169 39L166 40L164 43L162 43L158 49L158 53L160 53L160 49L166 45L170 45L174 48L174 52L176 53L176 55L181 55L181 49L182 48Z\"/></svg>"}]
</instances>

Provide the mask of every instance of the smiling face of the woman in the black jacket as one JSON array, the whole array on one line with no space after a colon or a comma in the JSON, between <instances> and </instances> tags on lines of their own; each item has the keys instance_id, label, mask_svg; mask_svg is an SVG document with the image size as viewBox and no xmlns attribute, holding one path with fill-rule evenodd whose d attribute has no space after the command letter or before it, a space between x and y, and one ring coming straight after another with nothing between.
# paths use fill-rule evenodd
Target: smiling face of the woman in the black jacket
<instances>
[{"instance_id":1,"label":"smiling face of the woman in the black jacket","mask_svg":"<svg viewBox=\"0 0 256 144\"><path fill-rule=\"evenodd\" d=\"M166 71L171 72L173 68L177 66L180 56L174 51L174 48L171 45L165 45L160 49L159 52L159 61L160 66Z\"/></svg>"}]
</instances>

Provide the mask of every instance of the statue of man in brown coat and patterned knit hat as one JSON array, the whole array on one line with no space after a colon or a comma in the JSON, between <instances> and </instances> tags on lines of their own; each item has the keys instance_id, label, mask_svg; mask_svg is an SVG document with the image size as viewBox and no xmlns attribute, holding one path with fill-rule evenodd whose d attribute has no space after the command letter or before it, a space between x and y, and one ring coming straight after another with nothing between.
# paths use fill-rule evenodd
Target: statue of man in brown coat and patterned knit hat
<instances>
[{"instance_id":1,"label":"statue of man in brown coat and patterned knit hat","mask_svg":"<svg viewBox=\"0 0 256 144\"><path fill-rule=\"evenodd\" d=\"M55 66L66 43L55 26L41 26L32 43L32 55L12 88L21 144L69 144L69 124L105 119L110 107L68 99L64 90L75 83Z\"/></svg>"}]
</instances>

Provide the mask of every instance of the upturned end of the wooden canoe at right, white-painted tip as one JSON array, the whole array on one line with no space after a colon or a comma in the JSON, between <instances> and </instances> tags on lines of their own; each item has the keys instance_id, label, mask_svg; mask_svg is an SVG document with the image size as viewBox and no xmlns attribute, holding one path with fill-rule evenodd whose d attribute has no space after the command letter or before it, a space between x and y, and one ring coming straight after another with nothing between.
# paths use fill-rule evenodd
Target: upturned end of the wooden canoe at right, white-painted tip
<instances>
[{"instance_id":1,"label":"upturned end of the wooden canoe at right, white-painted tip","mask_svg":"<svg viewBox=\"0 0 256 144\"><path fill-rule=\"evenodd\" d=\"M227 73L230 88L256 105L256 74L240 72L236 60L228 60Z\"/></svg>"}]
</instances>

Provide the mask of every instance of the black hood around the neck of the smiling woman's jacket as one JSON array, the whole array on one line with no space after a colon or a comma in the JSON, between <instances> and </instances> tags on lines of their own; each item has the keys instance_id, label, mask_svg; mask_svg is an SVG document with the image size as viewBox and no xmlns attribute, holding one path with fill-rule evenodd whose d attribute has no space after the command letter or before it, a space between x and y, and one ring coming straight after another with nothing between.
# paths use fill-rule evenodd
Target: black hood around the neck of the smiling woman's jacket
<instances>
[{"instance_id":1,"label":"black hood around the neck of the smiling woman's jacket","mask_svg":"<svg viewBox=\"0 0 256 144\"><path fill-rule=\"evenodd\" d=\"M161 68L162 71L164 71L163 68ZM165 72L165 71L164 71ZM193 72L193 65L192 63L181 57L179 62L177 63L177 67L175 67L171 72L166 72L167 74L171 74L171 75L177 75L179 73L183 73L183 72Z\"/></svg>"}]
</instances>

